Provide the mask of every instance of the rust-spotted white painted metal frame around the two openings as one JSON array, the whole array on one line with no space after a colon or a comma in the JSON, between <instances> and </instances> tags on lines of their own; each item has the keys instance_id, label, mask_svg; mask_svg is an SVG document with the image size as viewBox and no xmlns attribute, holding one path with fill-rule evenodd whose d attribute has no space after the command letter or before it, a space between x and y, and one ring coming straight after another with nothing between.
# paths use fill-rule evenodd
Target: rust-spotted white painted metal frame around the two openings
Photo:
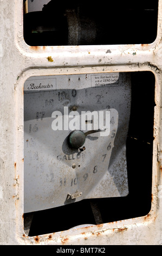
<instances>
[{"instance_id":1,"label":"rust-spotted white painted metal frame around the two openings","mask_svg":"<svg viewBox=\"0 0 162 256\"><path fill-rule=\"evenodd\" d=\"M25 44L22 2L22 0L0 1L0 244L162 244L162 134L160 129L162 1L159 1L157 39L152 44L54 47L30 47ZM47 58L50 56L54 62L48 61ZM30 76L40 75L123 71L152 71L155 76L156 107L151 211L144 217L37 237L26 236L23 230L23 86L25 80Z\"/></svg>"}]
</instances>

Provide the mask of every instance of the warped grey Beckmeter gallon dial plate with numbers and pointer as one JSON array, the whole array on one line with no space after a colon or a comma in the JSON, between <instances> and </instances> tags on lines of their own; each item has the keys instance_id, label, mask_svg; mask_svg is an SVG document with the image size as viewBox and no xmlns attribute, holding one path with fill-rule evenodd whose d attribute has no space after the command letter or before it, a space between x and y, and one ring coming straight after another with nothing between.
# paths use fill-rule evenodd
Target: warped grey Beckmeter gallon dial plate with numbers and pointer
<instances>
[{"instance_id":1,"label":"warped grey Beckmeter gallon dial plate with numbers and pointer","mask_svg":"<svg viewBox=\"0 0 162 256\"><path fill-rule=\"evenodd\" d=\"M24 212L128 194L126 73L24 83Z\"/></svg>"}]
</instances>

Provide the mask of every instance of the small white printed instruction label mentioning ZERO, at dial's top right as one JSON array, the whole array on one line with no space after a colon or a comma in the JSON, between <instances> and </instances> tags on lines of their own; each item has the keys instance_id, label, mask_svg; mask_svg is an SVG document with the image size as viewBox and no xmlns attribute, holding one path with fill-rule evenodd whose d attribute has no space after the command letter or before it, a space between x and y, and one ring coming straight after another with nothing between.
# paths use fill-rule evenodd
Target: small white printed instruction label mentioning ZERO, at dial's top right
<instances>
[{"instance_id":1,"label":"small white printed instruction label mentioning ZERO, at dial's top right","mask_svg":"<svg viewBox=\"0 0 162 256\"><path fill-rule=\"evenodd\" d=\"M108 84L114 84L119 86L119 73L108 73L108 74L95 74L91 75L91 86L92 87L104 87Z\"/></svg>"}]
</instances>

